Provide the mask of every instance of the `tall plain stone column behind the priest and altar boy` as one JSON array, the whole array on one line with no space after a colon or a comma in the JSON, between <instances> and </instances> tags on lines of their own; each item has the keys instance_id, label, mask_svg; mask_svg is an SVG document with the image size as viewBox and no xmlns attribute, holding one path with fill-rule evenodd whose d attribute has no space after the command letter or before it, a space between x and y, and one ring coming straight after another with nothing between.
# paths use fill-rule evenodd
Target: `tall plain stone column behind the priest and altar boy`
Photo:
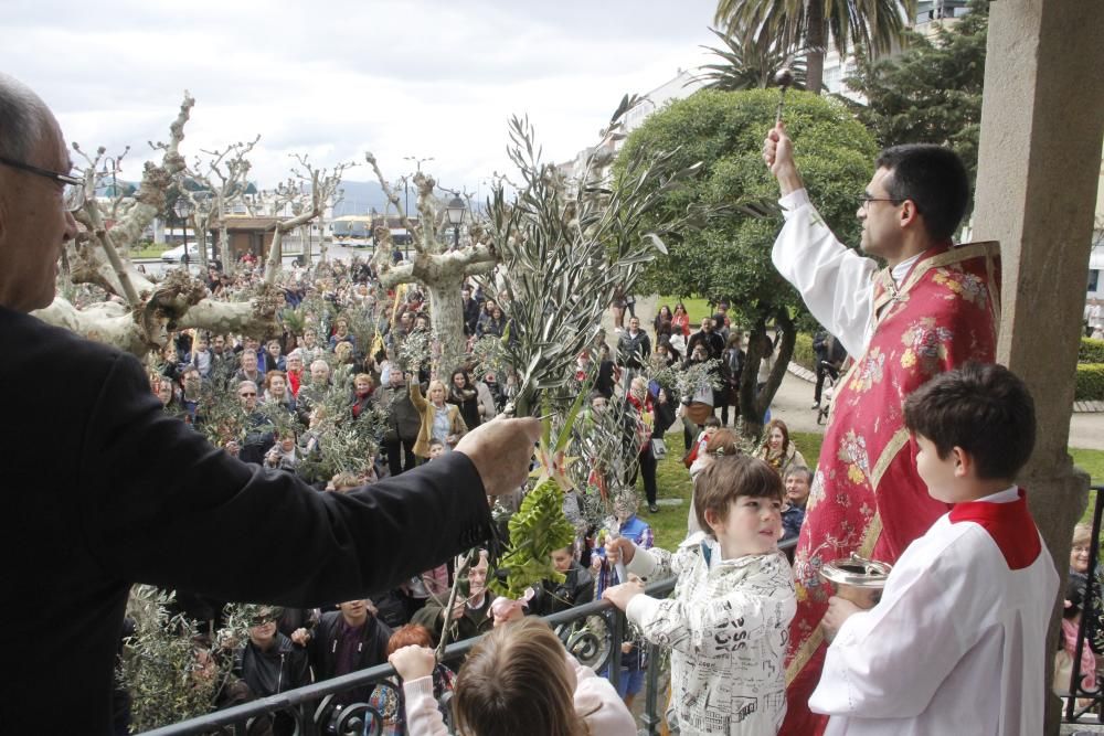
<instances>
[{"instance_id":1,"label":"tall plain stone column behind the priest and altar boy","mask_svg":"<svg viewBox=\"0 0 1104 736\"><path fill-rule=\"evenodd\" d=\"M1020 482L1063 580L1087 477L1066 444L1104 135L1104 2L990 6L974 238L1001 245L998 361L1036 399L1036 451ZM1048 637L1048 693L1061 595ZM1047 733L1060 703L1048 695Z\"/></svg>"}]
</instances>

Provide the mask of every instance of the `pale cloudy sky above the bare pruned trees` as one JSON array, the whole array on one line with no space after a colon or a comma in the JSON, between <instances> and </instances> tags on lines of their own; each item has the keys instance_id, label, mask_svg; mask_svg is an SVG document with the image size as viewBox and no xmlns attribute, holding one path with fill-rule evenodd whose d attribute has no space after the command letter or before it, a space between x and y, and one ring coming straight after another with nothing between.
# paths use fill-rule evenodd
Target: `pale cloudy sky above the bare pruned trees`
<instances>
[{"instance_id":1,"label":"pale cloudy sky above the bare pruned trees","mask_svg":"<svg viewBox=\"0 0 1104 736\"><path fill-rule=\"evenodd\" d=\"M376 154L450 188L509 171L511 115L551 160L595 141L622 95L708 63L715 0L3 0L0 70L33 87L66 137L131 153L164 140L183 89L184 152L252 139L254 179ZM348 180L372 180L358 167Z\"/></svg>"}]
</instances>

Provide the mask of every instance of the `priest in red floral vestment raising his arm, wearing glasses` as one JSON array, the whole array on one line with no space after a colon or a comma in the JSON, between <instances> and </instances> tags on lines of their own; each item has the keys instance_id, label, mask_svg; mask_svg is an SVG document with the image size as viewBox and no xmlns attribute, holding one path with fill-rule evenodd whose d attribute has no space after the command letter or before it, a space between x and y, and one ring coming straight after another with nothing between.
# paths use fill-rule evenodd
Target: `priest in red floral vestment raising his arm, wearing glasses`
<instances>
[{"instance_id":1,"label":"priest in red floral vestment raising his arm, wearing glasses","mask_svg":"<svg viewBox=\"0 0 1104 736\"><path fill-rule=\"evenodd\" d=\"M965 361L992 362L999 263L995 243L952 242L969 183L946 148L882 151L857 202L859 253L832 235L809 201L783 124L767 135L763 158L778 180L786 220L774 265L856 358L837 384L794 558L798 610L781 733L805 736L824 733L826 724L808 710L824 664L820 621L831 596L820 567L852 552L893 563L947 512L916 472L902 407L932 376Z\"/></svg>"}]
</instances>

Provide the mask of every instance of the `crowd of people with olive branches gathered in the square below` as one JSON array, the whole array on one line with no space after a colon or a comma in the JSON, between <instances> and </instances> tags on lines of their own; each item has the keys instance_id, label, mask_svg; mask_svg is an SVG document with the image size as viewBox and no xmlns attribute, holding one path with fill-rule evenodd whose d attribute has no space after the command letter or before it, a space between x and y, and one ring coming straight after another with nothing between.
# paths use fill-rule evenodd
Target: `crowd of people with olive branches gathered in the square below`
<instances>
[{"instance_id":1,"label":"crowd of people with olive branches gathered in the square below","mask_svg":"<svg viewBox=\"0 0 1104 736\"><path fill-rule=\"evenodd\" d=\"M233 298L248 294L258 278L259 267L243 259L233 278L211 268L208 284L212 294ZM167 413L241 460L296 473L320 492L346 492L433 462L467 431L498 415L509 399L513 377L480 365L477 351L471 350L487 335L505 334L508 318L501 297L490 298L479 286L464 285L458 298L469 361L435 373L426 356L411 355L404 346L420 332L432 341L427 306L417 289L383 291L371 264L359 258L348 265L341 260L314 268L295 265L283 278L283 286L288 306L277 333L258 340L248 334L184 330L172 337L150 371L151 388ZM592 386L578 424L582 444L588 433L616 427L625 452L635 457L626 463L626 477L615 479L612 487L631 488L639 476L651 512L658 510L656 469L666 452L664 435L676 422L682 420L687 436L698 437L691 446L701 444L701 462L725 454L709 439L726 424L728 417L718 418L715 412L723 407L726 413L726 403L732 401L726 387L739 382L745 355L742 333L726 312L726 305L721 305L718 313L701 320L700 330L692 333L687 321L679 320L686 314L682 305L677 305L673 313L660 310L652 323L654 334L645 332L634 316L626 329L615 332L616 346L598 342L597 350L578 356L575 378L580 385ZM672 330L689 339L672 341ZM681 360L683 352L689 353L686 361ZM691 418L691 406L699 403L696 396L678 395L662 372L705 363L722 376L721 387L710 385L705 396L698 397L708 397L700 402L710 407L708 416ZM616 420L603 424L608 422L604 414L611 410ZM734 454L737 442L732 431L722 431ZM363 435L365 441L342 439L350 435ZM323 461L330 458L326 448L331 442L340 444L344 462ZM365 455L349 457L357 452ZM581 454L585 456L585 450ZM758 455L778 476L779 487L784 480L787 488L799 486L790 477L805 481L804 492L786 501L786 534L796 534L811 473L789 442L783 423L776 420L768 427ZM698 468L693 474L697 472ZM608 482L597 474L592 472L588 482ZM565 580L538 586L528 614L565 610L627 583L624 573L606 557L608 541L627 538L640 548L652 545L649 525L637 515L635 492L617 493L613 515L597 524L583 518L577 497L572 502L580 505L571 514L578 529L576 542L558 551L552 559ZM690 531L698 525L691 509ZM236 653L233 685L222 690L220 704L272 695L372 666L412 642L435 646L446 628L453 640L487 633L495 623L487 565L484 555L464 569L467 593L452 608L447 600L456 567L453 563L425 570L400 586L372 591L365 599L335 602L336 609L267 607L265 610L272 612L256 620L248 641ZM220 628L222 606L222 601L187 590L177 594L177 610L200 631ZM643 639L630 638L613 658L622 670L617 695L627 705L643 687L646 651ZM434 678L438 690L450 687L453 682L447 669ZM374 698L382 712L394 715L402 712L396 706L403 700L401 693L401 687L381 686L350 692L339 700ZM279 732L287 724L276 718L273 726ZM394 723L389 728L385 733L403 733Z\"/></svg>"}]
</instances>

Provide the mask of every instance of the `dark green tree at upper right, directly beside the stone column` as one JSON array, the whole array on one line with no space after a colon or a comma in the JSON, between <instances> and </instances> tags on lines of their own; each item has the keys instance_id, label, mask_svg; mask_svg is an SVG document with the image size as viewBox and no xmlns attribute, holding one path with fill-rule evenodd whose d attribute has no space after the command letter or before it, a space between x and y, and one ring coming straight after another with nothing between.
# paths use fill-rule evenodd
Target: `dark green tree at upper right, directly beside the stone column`
<instances>
[{"instance_id":1,"label":"dark green tree at upper right, directly beside the stone column","mask_svg":"<svg viewBox=\"0 0 1104 736\"><path fill-rule=\"evenodd\" d=\"M858 116L879 145L949 146L973 183L988 24L988 0L972 0L967 14L942 26L934 39L909 32L907 46L895 56L871 61L858 55L858 74L847 84L866 96Z\"/></svg>"}]
</instances>

